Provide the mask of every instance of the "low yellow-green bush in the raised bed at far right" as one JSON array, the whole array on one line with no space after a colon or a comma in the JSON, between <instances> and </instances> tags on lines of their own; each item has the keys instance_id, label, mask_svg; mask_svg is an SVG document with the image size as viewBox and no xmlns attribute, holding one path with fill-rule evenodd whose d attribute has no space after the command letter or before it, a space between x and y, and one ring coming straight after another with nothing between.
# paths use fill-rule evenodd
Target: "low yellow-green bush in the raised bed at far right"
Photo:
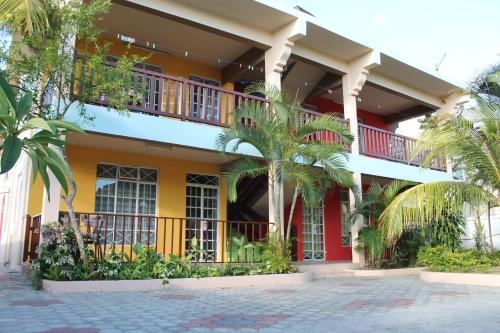
<instances>
[{"instance_id":1,"label":"low yellow-green bush in the raised bed at far right","mask_svg":"<svg viewBox=\"0 0 500 333\"><path fill-rule=\"evenodd\" d=\"M417 265L433 272L486 272L495 263L488 255L476 250L452 251L445 246L422 247Z\"/></svg>"}]
</instances>

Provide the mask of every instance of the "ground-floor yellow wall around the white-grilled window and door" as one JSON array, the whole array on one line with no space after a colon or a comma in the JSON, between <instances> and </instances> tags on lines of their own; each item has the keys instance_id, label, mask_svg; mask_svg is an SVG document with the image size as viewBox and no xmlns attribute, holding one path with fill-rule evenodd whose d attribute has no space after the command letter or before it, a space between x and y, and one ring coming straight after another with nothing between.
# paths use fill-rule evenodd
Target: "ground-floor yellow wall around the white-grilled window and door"
<instances>
[{"instance_id":1,"label":"ground-floor yellow wall around the white-grilled window and door","mask_svg":"<svg viewBox=\"0 0 500 333\"><path fill-rule=\"evenodd\" d=\"M78 186L74 208L76 212L82 213L94 212L96 168L98 163L157 169L156 216L158 217L182 218L186 216L186 175L188 173L219 175L220 171L219 166L215 164L175 160L158 156L129 154L78 146L69 146L67 151L69 163ZM219 220L226 220L227 195L223 184L219 185L218 192ZM60 203L60 210L67 210L64 201ZM158 221L158 252L165 252L165 254L174 253L176 255L183 253L185 225L181 225L179 222L172 223L171 219L160 218ZM225 237L222 234L222 223L218 223L218 230L217 248L220 260L222 242L225 241ZM121 244L117 244L117 249L121 250L121 248ZM107 249L109 249L109 245ZM131 252L130 246L124 246L123 250L126 253Z\"/></svg>"}]
</instances>

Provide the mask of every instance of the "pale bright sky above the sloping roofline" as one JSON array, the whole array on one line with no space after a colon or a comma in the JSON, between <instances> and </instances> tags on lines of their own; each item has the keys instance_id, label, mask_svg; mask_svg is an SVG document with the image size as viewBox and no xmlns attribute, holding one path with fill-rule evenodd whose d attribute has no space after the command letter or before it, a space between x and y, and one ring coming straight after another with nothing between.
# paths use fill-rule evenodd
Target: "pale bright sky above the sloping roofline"
<instances>
[{"instance_id":1,"label":"pale bright sky above the sloping roofline","mask_svg":"<svg viewBox=\"0 0 500 333\"><path fill-rule=\"evenodd\" d=\"M333 31L464 85L500 62L500 0L276 0Z\"/></svg>"}]
</instances>

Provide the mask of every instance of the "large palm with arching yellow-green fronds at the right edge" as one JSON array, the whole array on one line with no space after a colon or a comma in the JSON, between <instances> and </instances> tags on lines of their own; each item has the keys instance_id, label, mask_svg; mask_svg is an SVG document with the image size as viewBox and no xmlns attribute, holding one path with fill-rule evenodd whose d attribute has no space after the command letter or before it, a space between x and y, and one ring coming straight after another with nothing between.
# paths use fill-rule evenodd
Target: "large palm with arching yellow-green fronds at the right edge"
<instances>
[{"instance_id":1,"label":"large palm with arching yellow-green fronds at the right edge","mask_svg":"<svg viewBox=\"0 0 500 333\"><path fill-rule=\"evenodd\" d=\"M412 153L427 153L424 167L446 156L464 180L420 184L398 195L380 218L388 240L397 239L405 227L460 213L465 202L476 211L500 205L500 66L476 79L468 94L474 105L432 118Z\"/></svg>"}]
</instances>

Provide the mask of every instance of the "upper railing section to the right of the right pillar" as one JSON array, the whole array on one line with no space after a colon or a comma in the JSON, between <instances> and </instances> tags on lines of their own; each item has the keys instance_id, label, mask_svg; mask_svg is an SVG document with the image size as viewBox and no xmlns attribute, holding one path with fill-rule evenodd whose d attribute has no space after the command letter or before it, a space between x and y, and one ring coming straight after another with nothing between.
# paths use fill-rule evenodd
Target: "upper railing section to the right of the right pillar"
<instances>
[{"instance_id":1,"label":"upper railing section to the right of the right pillar","mask_svg":"<svg viewBox=\"0 0 500 333\"><path fill-rule=\"evenodd\" d=\"M360 154L417 166L422 165L426 157L425 152L410 160L411 152L416 145L415 139L364 124L358 124L358 128ZM444 157L437 158L430 167L445 171L446 160Z\"/></svg>"}]
</instances>

